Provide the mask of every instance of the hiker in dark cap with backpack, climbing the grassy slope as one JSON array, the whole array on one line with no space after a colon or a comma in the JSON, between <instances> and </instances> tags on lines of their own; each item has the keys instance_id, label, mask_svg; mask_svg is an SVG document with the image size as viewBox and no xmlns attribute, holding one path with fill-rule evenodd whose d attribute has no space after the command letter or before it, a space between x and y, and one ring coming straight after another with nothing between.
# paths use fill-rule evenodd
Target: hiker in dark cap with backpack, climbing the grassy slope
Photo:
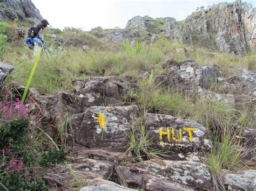
<instances>
[{"instance_id":1,"label":"hiker in dark cap with backpack, climbing the grassy slope","mask_svg":"<svg viewBox=\"0 0 256 191\"><path fill-rule=\"evenodd\" d=\"M28 38L25 40L25 44L28 45L29 48L34 49L34 56L36 56L39 53L40 48L44 46L43 30L47 25L49 25L48 20L43 19L41 24L31 27L28 32Z\"/></svg>"}]
</instances>

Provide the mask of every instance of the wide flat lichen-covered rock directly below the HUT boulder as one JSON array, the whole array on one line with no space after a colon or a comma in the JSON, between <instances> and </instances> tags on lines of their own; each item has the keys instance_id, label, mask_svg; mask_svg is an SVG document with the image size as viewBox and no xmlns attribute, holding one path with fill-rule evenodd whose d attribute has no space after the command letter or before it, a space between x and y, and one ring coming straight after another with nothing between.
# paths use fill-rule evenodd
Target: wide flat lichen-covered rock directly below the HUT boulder
<instances>
[{"instance_id":1,"label":"wide flat lichen-covered rock directly below the HUT boulder","mask_svg":"<svg viewBox=\"0 0 256 191\"><path fill-rule=\"evenodd\" d=\"M206 165L192 161L149 160L116 167L123 185L146 190L211 189L212 178Z\"/></svg>"}]
</instances>

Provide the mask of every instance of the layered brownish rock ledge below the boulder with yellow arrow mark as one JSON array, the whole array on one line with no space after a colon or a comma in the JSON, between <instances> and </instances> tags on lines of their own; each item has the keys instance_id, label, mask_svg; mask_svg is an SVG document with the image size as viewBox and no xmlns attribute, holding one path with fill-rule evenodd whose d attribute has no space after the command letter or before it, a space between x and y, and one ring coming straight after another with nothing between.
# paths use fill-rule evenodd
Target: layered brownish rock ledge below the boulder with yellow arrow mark
<instances>
[{"instance_id":1,"label":"layered brownish rock ledge below the boulder with yellow arrow mark","mask_svg":"<svg viewBox=\"0 0 256 191\"><path fill-rule=\"evenodd\" d=\"M82 149L74 154L69 157L69 164L58 164L45 169L44 179L49 185L71 188L73 183L85 180L108 179L114 172L114 166L126 158L123 153L108 150ZM73 175L67 165L73 169Z\"/></svg>"}]
</instances>

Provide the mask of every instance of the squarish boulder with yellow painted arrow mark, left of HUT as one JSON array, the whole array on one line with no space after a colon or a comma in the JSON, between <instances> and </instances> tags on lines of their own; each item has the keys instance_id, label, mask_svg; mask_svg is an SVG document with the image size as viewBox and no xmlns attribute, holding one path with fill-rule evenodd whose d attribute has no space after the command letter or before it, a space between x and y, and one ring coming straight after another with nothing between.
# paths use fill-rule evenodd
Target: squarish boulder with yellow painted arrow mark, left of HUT
<instances>
[{"instance_id":1,"label":"squarish boulder with yellow painted arrow mark, left of HUT","mask_svg":"<svg viewBox=\"0 0 256 191\"><path fill-rule=\"evenodd\" d=\"M125 151L129 140L127 132L138 116L138 107L90 107L82 114L72 116L75 142L89 148L111 147Z\"/></svg>"}]
</instances>

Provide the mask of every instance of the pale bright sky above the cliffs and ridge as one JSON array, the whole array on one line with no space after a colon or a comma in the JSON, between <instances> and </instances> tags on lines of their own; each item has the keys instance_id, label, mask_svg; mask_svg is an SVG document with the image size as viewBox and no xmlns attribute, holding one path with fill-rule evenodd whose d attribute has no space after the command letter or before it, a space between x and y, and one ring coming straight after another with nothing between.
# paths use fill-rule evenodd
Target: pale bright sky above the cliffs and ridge
<instances>
[{"instance_id":1,"label":"pale bright sky above the cliffs and ridge","mask_svg":"<svg viewBox=\"0 0 256 191\"><path fill-rule=\"evenodd\" d=\"M234 2L227 0L225 2ZM124 28L134 16L174 17L184 20L197 7L218 4L219 0L32 0L43 18L52 27L76 27L89 31L97 26L103 29ZM244 2L244 1L242 1ZM256 1L248 0L255 8Z\"/></svg>"}]
</instances>

